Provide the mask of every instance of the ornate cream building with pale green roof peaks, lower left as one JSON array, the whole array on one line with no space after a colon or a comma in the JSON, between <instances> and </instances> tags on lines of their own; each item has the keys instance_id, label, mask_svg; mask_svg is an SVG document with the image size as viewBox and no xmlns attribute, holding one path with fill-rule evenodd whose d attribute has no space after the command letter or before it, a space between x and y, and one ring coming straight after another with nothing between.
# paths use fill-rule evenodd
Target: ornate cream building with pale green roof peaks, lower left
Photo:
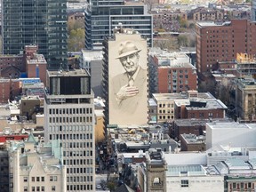
<instances>
[{"instance_id":1,"label":"ornate cream building with pale green roof peaks, lower left","mask_svg":"<svg viewBox=\"0 0 256 192\"><path fill-rule=\"evenodd\" d=\"M27 141L12 142L9 154L12 192L66 191L66 168L59 140L38 143L30 134Z\"/></svg>"}]
</instances>

